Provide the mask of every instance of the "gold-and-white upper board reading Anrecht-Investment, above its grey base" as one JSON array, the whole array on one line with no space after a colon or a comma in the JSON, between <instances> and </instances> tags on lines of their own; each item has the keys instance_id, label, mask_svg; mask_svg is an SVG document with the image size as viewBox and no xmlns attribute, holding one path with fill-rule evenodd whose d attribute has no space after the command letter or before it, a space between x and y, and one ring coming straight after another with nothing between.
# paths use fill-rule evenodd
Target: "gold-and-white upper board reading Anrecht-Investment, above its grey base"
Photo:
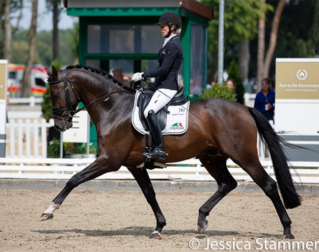
<instances>
[{"instance_id":1,"label":"gold-and-white upper board reading Anrecht-Investment, above its grey base","mask_svg":"<svg viewBox=\"0 0 319 252\"><path fill-rule=\"evenodd\" d=\"M319 58L277 58L275 131L319 136Z\"/></svg>"}]
</instances>

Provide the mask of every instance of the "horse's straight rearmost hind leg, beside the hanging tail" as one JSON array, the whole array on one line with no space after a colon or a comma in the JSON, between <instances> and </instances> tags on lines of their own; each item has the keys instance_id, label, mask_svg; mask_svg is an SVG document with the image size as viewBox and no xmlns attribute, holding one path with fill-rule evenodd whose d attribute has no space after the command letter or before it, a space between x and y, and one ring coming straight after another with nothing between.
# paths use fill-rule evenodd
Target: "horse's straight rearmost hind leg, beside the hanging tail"
<instances>
[{"instance_id":1,"label":"horse's straight rearmost hind leg, beside the hanging tail","mask_svg":"<svg viewBox=\"0 0 319 252\"><path fill-rule=\"evenodd\" d=\"M290 220L288 213L284 207L283 202L280 199L277 183L273 180L265 171L263 166L259 161L253 162L253 160L246 161L246 162L238 162L239 166L248 173L249 176L254 180L254 182L262 188L266 196L271 200L273 203L277 214L279 216L280 222L284 227L284 234L285 238L293 239L294 236L291 233L291 224L292 221ZM251 165L254 164L254 165Z\"/></svg>"}]
</instances>

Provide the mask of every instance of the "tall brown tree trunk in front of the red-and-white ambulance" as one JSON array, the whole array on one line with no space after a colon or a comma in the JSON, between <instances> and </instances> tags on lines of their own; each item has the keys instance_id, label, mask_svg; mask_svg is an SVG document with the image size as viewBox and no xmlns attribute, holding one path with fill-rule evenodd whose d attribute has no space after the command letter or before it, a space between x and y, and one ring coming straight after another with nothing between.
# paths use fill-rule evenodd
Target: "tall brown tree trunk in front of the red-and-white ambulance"
<instances>
[{"instance_id":1,"label":"tall brown tree trunk in front of the red-and-white ambulance","mask_svg":"<svg viewBox=\"0 0 319 252\"><path fill-rule=\"evenodd\" d=\"M29 30L29 53L27 57L25 71L22 78L22 97L29 97L30 92L30 73L32 65L34 63L34 57L36 52L36 18L38 12L38 0L32 0L32 18L31 18L31 27Z\"/></svg>"}]
</instances>

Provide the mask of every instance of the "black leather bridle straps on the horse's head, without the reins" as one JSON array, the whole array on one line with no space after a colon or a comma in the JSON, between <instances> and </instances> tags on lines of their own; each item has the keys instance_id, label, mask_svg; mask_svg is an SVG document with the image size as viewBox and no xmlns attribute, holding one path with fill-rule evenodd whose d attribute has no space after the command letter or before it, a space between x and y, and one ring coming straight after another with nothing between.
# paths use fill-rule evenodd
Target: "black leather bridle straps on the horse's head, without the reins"
<instances>
[{"instance_id":1,"label":"black leather bridle straps on the horse's head, without the reins","mask_svg":"<svg viewBox=\"0 0 319 252\"><path fill-rule=\"evenodd\" d=\"M67 107L65 108L53 108L52 109L52 114L53 117L60 120L60 121L66 121L67 118L71 117L73 118L73 116L76 114L76 106L73 106L72 101L71 101L71 95L70 95L70 87L73 90L73 92L75 93L76 97L78 98L78 101L80 102L80 96L78 95L77 91L75 90L74 86L72 85L72 83L70 82L70 80L68 79L68 71L66 69L62 70L62 78L56 81L52 81L49 82L49 85L53 85L53 84L57 84L62 82L64 83L64 91L65 91L65 97L66 97L66 103L67 103ZM68 83L70 83L70 87L68 85ZM65 117L59 117L57 115L62 114L63 111L68 110L69 114Z\"/></svg>"}]
</instances>

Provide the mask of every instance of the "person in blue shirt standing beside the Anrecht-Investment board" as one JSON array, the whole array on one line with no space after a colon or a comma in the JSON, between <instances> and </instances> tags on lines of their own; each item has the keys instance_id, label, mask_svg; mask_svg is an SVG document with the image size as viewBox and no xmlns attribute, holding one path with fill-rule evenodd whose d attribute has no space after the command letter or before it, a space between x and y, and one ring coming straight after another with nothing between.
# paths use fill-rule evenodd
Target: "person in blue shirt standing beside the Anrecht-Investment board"
<instances>
[{"instance_id":1,"label":"person in blue shirt standing beside the Anrecht-Investment board","mask_svg":"<svg viewBox=\"0 0 319 252\"><path fill-rule=\"evenodd\" d=\"M262 80L262 90L256 95L254 108L263 113L268 121L274 121L275 92L271 90L269 78Z\"/></svg>"}]
</instances>

